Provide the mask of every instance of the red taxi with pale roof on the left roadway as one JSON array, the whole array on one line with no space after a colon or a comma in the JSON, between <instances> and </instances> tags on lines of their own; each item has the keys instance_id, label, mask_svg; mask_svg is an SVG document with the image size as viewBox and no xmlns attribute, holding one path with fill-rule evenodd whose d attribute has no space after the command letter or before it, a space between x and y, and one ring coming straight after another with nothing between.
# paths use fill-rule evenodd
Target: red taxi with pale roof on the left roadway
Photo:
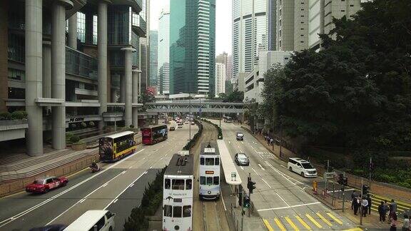
<instances>
[{"instance_id":1,"label":"red taxi with pale roof on the left roadway","mask_svg":"<svg viewBox=\"0 0 411 231\"><path fill-rule=\"evenodd\" d=\"M47 193L49 190L66 186L68 179L65 177L45 177L34 180L26 186L27 193Z\"/></svg>"}]
</instances>

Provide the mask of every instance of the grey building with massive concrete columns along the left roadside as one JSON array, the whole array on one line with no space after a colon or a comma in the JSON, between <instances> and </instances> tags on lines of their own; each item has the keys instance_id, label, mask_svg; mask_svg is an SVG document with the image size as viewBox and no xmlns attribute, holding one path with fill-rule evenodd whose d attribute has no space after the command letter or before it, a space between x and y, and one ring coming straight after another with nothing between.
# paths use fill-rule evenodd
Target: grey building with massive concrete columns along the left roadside
<instances>
[{"instance_id":1,"label":"grey building with massive concrete columns along the left roadside","mask_svg":"<svg viewBox=\"0 0 411 231\"><path fill-rule=\"evenodd\" d=\"M44 136L59 150L66 130L110 125L114 106L121 123L138 125L142 8L126 0L1 1L0 110L28 114L29 155L43 154Z\"/></svg>"}]
</instances>

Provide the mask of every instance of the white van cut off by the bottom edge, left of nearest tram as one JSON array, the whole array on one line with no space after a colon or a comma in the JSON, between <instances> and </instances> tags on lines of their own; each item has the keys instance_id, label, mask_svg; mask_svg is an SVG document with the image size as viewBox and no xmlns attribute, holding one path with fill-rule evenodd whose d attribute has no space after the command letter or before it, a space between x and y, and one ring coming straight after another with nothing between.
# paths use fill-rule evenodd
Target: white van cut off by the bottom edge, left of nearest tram
<instances>
[{"instance_id":1,"label":"white van cut off by the bottom edge, left of nearest tram","mask_svg":"<svg viewBox=\"0 0 411 231\"><path fill-rule=\"evenodd\" d=\"M64 231L113 231L115 215L108 210L88 210Z\"/></svg>"}]
</instances>

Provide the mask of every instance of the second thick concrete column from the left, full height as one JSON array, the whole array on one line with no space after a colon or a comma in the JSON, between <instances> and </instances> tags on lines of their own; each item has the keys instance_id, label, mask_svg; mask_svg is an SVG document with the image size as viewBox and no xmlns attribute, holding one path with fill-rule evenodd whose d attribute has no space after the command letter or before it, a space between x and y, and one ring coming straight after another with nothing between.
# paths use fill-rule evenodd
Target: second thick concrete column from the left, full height
<instances>
[{"instance_id":1,"label":"second thick concrete column from the left, full height","mask_svg":"<svg viewBox=\"0 0 411 231\"><path fill-rule=\"evenodd\" d=\"M73 7L67 0L54 1L51 6L51 96L66 98L66 8ZM54 149L66 148L66 106L51 109L51 133Z\"/></svg>"}]
</instances>

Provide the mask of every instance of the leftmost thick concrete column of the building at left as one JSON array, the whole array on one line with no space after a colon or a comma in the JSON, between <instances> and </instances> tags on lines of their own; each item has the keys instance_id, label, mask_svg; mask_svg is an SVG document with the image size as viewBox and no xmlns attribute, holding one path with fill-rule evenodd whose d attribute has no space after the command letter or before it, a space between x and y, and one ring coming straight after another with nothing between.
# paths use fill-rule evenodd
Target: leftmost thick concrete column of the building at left
<instances>
[{"instance_id":1,"label":"leftmost thick concrete column of the building at left","mask_svg":"<svg viewBox=\"0 0 411 231\"><path fill-rule=\"evenodd\" d=\"M42 0L26 1L26 132L27 154L43 154L43 114L35 99L42 95L43 78L43 4Z\"/></svg>"}]
</instances>

